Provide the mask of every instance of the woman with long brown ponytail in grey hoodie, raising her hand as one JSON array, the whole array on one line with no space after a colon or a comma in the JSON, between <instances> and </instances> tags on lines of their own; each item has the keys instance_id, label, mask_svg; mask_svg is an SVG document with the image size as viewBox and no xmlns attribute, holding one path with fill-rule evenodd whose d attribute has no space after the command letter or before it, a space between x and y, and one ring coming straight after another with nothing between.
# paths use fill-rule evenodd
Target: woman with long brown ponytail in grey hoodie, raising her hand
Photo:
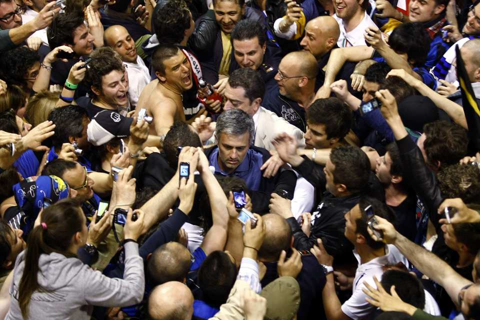
<instances>
[{"instance_id":1,"label":"woman with long brown ponytail in grey hoodie, raising her hand","mask_svg":"<svg viewBox=\"0 0 480 320\"><path fill-rule=\"evenodd\" d=\"M50 205L40 225L29 235L26 249L15 262L10 286L10 309L5 319L89 319L93 305L126 306L143 297L143 261L136 240L143 229L143 214L128 211L123 228L123 279L108 278L77 257L87 239L85 216L72 199Z\"/></svg>"}]
</instances>

